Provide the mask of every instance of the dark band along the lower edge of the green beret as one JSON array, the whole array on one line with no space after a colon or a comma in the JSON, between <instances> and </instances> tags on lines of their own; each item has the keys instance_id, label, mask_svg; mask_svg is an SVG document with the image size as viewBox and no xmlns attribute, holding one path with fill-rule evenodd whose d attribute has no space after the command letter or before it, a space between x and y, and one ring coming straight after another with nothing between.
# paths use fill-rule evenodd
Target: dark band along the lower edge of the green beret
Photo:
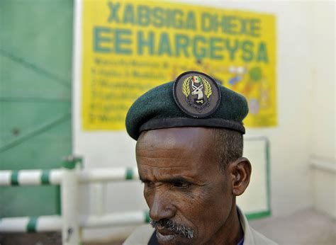
<instances>
[{"instance_id":1,"label":"dark band along the lower edge of the green beret","mask_svg":"<svg viewBox=\"0 0 336 245\"><path fill-rule=\"evenodd\" d=\"M169 127L223 127L245 134L245 127L242 124L221 118L156 118L142 124L138 135L145 130Z\"/></svg>"}]
</instances>

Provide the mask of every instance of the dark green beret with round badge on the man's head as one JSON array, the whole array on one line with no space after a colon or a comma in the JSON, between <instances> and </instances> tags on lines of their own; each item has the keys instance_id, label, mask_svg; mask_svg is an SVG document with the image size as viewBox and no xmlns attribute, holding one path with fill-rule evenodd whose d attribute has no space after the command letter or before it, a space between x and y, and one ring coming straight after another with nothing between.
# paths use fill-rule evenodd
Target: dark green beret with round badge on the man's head
<instances>
[{"instance_id":1,"label":"dark green beret with round badge on the man's head","mask_svg":"<svg viewBox=\"0 0 336 245\"><path fill-rule=\"evenodd\" d=\"M147 91L126 115L128 135L169 127L222 127L245 134L245 97L201 72L184 72L175 81Z\"/></svg>"}]
</instances>

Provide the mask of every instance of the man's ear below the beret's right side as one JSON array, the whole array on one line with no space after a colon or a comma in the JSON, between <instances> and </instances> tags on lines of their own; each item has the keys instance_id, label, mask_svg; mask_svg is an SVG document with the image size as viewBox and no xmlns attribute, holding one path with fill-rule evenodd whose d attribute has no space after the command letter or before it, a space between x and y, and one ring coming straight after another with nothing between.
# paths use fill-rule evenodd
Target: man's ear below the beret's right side
<instances>
[{"instance_id":1,"label":"man's ear below the beret's right side","mask_svg":"<svg viewBox=\"0 0 336 245\"><path fill-rule=\"evenodd\" d=\"M240 157L228 166L231 176L233 195L242 195L250 183L251 164L245 157Z\"/></svg>"}]
</instances>

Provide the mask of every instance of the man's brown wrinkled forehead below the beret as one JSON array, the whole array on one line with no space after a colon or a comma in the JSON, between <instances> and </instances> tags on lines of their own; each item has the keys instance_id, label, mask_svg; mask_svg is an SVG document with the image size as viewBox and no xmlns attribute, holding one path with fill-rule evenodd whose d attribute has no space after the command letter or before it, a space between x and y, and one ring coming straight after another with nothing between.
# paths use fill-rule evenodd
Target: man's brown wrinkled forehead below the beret
<instances>
[{"instance_id":1,"label":"man's brown wrinkled forehead below the beret","mask_svg":"<svg viewBox=\"0 0 336 245\"><path fill-rule=\"evenodd\" d=\"M189 176L203 179L218 172L212 130L172 127L142 132L137 143L137 164L142 178ZM155 176L155 177L153 177Z\"/></svg>"}]
</instances>

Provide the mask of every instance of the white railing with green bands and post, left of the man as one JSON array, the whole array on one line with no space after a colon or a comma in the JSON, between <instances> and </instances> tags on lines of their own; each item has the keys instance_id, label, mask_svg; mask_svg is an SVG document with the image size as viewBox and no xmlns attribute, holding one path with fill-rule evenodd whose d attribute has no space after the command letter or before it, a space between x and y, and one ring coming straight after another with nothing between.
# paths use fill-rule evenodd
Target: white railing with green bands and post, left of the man
<instances>
[{"instance_id":1,"label":"white railing with green bands and post, left of the man","mask_svg":"<svg viewBox=\"0 0 336 245\"><path fill-rule=\"evenodd\" d=\"M62 215L5 217L0 232L62 232L62 244L80 244L81 229L149 222L147 211L79 215L79 184L127 181L139 178L136 168L82 170L82 159L69 156L62 169L0 171L0 186L61 186ZM101 195L104 195L102 192ZM101 205L101 204L100 204Z\"/></svg>"}]
</instances>

